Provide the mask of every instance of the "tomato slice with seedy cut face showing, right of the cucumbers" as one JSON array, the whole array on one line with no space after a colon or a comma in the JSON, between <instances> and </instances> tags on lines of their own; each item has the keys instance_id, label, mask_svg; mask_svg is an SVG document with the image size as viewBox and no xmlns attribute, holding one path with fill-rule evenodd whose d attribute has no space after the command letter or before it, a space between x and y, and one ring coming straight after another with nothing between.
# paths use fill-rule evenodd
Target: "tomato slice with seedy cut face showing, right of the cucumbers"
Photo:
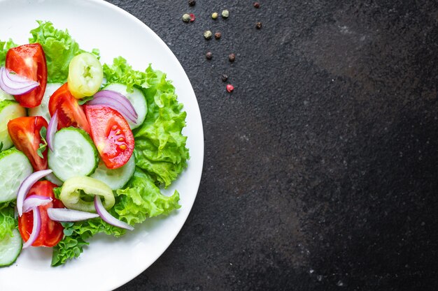
<instances>
[{"instance_id":1,"label":"tomato slice with seedy cut face showing, right of the cucumbers","mask_svg":"<svg viewBox=\"0 0 438 291\"><path fill-rule=\"evenodd\" d=\"M134 151L134 135L125 117L104 105L85 105L91 137L108 169L125 165Z\"/></svg>"}]
</instances>

